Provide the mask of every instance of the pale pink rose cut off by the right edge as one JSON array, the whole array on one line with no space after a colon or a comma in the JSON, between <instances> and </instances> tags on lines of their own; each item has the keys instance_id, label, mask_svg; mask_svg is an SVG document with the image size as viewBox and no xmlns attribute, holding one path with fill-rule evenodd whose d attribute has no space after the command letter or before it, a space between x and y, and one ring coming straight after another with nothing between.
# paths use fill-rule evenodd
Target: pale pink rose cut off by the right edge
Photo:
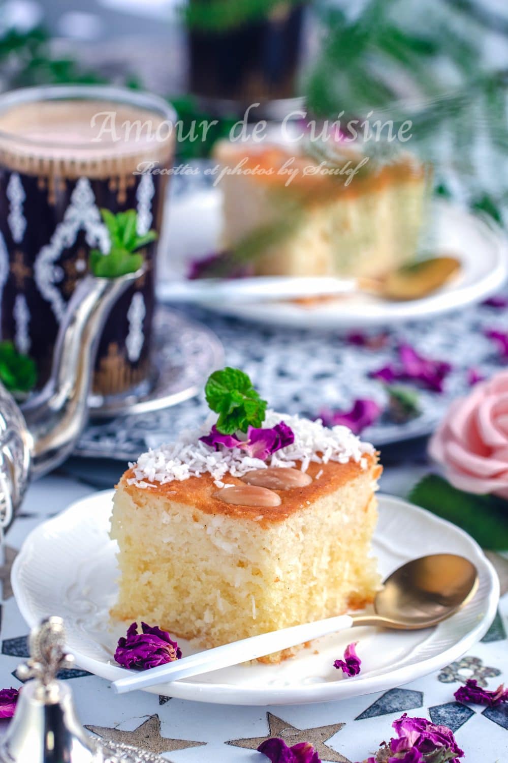
<instances>
[{"instance_id":1,"label":"pale pink rose cut off by the right edge","mask_svg":"<svg viewBox=\"0 0 508 763\"><path fill-rule=\"evenodd\" d=\"M429 454L455 488L508 498L508 371L481 381L450 406Z\"/></svg>"}]
</instances>

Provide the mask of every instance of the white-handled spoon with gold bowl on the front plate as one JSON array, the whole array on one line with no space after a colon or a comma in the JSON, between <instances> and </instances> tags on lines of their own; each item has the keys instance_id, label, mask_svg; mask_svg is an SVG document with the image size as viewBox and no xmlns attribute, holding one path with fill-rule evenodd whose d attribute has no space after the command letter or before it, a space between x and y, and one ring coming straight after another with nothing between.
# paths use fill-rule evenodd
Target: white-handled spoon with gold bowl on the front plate
<instances>
[{"instance_id":1,"label":"white-handled spoon with gold bowl on the front plate","mask_svg":"<svg viewBox=\"0 0 508 763\"><path fill-rule=\"evenodd\" d=\"M124 694L161 681L177 681L228 668L353 626L403 630L429 628L463 607L477 588L478 572L463 556L422 556L389 575L375 596L373 614L329 617L216 646L141 673L125 671L126 678L114 681L113 689L117 694Z\"/></svg>"}]
</instances>

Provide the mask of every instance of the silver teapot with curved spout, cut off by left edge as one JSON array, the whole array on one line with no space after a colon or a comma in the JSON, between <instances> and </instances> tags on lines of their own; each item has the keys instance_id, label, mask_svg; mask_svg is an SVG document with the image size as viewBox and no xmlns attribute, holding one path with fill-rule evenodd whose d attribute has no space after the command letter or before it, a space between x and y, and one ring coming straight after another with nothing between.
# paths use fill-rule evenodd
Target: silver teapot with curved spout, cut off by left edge
<instances>
[{"instance_id":1,"label":"silver teapot with curved spout, cut off by left edge","mask_svg":"<svg viewBox=\"0 0 508 763\"><path fill-rule=\"evenodd\" d=\"M72 452L88 418L94 361L107 316L142 272L118 278L86 275L79 282L59 327L50 379L21 410L0 384L0 526L11 522L28 481L50 472Z\"/></svg>"}]
</instances>

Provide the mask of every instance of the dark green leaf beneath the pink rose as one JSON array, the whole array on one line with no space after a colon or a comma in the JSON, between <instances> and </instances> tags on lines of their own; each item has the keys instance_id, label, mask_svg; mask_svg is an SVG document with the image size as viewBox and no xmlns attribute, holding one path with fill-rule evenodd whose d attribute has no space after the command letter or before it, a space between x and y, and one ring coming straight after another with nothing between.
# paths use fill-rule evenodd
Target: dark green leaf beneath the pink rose
<instances>
[{"instance_id":1,"label":"dark green leaf beneath the pink rose","mask_svg":"<svg viewBox=\"0 0 508 763\"><path fill-rule=\"evenodd\" d=\"M503 498L465 493L443 477L427 475L408 500L462 527L482 548L508 550L508 501Z\"/></svg>"}]
</instances>

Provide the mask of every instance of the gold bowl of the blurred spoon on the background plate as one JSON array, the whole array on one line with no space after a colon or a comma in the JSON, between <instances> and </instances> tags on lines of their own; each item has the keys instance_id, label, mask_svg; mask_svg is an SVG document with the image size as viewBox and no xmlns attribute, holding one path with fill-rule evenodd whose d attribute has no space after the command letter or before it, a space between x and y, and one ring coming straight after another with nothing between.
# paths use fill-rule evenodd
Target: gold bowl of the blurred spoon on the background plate
<instances>
[{"instance_id":1,"label":"gold bowl of the blurred spoon on the background plate","mask_svg":"<svg viewBox=\"0 0 508 763\"><path fill-rule=\"evenodd\" d=\"M383 299L420 299L448 283L460 269L456 257L430 257L392 270L384 278L359 278L358 285L361 291L374 292Z\"/></svg>"}]
</instances>

